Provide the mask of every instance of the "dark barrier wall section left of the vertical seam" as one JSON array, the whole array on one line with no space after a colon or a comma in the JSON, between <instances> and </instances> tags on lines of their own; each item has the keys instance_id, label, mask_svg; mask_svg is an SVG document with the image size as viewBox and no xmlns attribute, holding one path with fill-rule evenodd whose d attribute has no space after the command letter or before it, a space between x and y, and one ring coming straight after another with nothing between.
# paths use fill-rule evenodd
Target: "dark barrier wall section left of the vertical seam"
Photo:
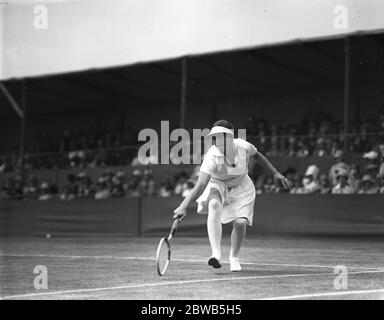
<instances>
[{"instance_id":1,"label":"dark barrier wall section left of the vertical seam","mask_svg":"<svg viewBox=\"0 0 384 320\"><path fill-rule=\"evenodd\" d=\"M137 236L139 198L0 202L0 236Z\"/></svg>"}]
</instances>

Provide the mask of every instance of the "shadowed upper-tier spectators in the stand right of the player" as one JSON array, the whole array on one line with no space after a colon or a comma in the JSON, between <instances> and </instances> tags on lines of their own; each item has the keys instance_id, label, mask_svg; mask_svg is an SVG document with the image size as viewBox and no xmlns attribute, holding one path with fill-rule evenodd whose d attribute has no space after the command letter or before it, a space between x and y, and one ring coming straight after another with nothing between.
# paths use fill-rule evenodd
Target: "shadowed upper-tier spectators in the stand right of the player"
<instances>
[{"instance_id":1,"label":"shadowed upper-tier spectators in the stand right of the player","mask_svg":"<svg viewBox=\"0 0 384 320\"><path fill-rule=\"evenodd\" d=\"M363 154L377 147L384 137L384 113L375 120L349 124L345 138L341 121L324 112L308 114L293 125L271 124L263 118L250 118L247 137L267 156L333 156L348 142L348 152Z\"/></svg>"}]
</instances>

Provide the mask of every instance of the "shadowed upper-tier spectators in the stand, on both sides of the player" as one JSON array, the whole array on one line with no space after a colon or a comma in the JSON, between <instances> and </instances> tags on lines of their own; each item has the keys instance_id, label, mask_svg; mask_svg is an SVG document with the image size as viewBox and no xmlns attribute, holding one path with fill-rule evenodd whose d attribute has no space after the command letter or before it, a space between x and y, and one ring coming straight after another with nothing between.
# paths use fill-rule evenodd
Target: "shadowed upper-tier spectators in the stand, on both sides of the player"
<instances>
[{"instance_id":1,"label":"shadowed upper-tier spectators in the stand, on both sides of the player","mask_svg":"<svg viewBox=\"0 0 384 320\"><path fill-rule=\"evenodd\" d=\"M372 121L351 122L347 138L343 123L324 112L307 114L291 125L250 117L245 128L247 139L269 157L334 156L344 148L345 139L348 152L363 154L377 148L384 139L384 113ZM64 130L60 134L39 134L27 151L24 165L27 169L123 166L135 161L137 151L137 132L130 126ZM0 173L20 167L20 158L17 152L14 154L0 155Z\"/></svg>"}]
</instances>

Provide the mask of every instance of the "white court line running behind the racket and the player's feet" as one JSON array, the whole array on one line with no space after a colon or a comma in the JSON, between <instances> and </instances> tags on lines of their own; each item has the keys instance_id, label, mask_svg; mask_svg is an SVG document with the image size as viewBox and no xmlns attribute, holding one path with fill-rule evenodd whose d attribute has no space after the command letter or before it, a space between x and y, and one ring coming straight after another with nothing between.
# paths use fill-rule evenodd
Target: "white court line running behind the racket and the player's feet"
<instances>
[{"instance_id":1,"label":"white court line running behind the racket and the player's feet","mask_svg":"<svg viewBox=\"0 0 384 320\"><path fill-rule=\"evenodd\" d=\"M26 257L26 258L63 258L63 259L116 259L116 260L156 260L155 257L130 257L130 256L84 256L84 255L55 255L55 254L18 254L18 253L4 253L0 257ZM172 261L177 262L206 262L203 259L182 259L172 258ZM222 263L229 264L229 261L222 261ZM301 267L301 268L329 268L334 269L336 265L316 265L316 264L288 264L288 263L258 263L258 262L244 262L244 265L255 266L275 266L275 267ZM382 267L357 267L347 266L348 269L356 270L384 270Z\"/></svg>"}]
</instances>

